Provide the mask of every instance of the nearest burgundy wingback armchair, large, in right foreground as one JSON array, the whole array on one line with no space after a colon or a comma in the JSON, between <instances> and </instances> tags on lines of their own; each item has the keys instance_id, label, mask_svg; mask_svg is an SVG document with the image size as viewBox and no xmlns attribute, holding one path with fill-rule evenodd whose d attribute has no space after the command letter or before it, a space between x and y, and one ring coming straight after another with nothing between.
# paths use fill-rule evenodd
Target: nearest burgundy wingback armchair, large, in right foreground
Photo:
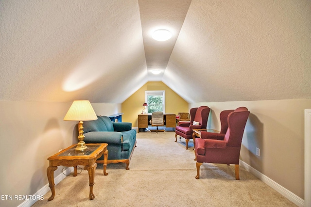
<instances>
[{"instance_id":1,"label":"nearest burgundy wingback armchair, large, in right foreground","mask_svg":"<svg viewBox=\"0 0 311 207\"><path fill-rule=\"evenodd\" d=\"M229 113L224 140L217 140L217 137L210 136L211 134L205 131L201 132L201 139L195 139L196 179L200 178L200 166L203 162L234 164L235 177L240 179L240 150L249 113L246 107L237 108Z\"/></svg>"}]
</instances>

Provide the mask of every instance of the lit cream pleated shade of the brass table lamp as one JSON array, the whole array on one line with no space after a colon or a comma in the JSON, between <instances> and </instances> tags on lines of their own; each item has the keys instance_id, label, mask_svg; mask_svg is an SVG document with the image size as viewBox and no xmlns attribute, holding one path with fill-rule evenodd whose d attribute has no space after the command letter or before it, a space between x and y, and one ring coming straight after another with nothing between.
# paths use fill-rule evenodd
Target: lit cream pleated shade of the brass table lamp
<instances>
[{"instance_id":1,"label":"lit cream pleated shade of the brass table lamp","mask_svg":"<svg viewBox=\"0 0 311 207\"><path fill-rule=\"evenodd\" d=\"M96 113L88 100L73 101L64 118L65 121L90 121L96 119Z\"/></svg>"}]
</instances>

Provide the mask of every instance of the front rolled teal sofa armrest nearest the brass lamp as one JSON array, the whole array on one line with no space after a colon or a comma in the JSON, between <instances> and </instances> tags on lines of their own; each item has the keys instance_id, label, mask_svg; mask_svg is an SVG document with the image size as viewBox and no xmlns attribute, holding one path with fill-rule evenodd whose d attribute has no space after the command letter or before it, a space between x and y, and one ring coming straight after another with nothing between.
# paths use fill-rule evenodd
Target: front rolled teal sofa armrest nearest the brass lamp
<instances>
[{"instance_id":1,"label":"front rolled teal sofa armrest nearest the brass lamp","mask_svg":"<svg viewBox=\"0 0 311 207\"><path fill-rule=\"evenodd\" d=\"M122 144L123 137L117 131L90 131L84 134L86 143Z\"/></svg>"}]
</instances>

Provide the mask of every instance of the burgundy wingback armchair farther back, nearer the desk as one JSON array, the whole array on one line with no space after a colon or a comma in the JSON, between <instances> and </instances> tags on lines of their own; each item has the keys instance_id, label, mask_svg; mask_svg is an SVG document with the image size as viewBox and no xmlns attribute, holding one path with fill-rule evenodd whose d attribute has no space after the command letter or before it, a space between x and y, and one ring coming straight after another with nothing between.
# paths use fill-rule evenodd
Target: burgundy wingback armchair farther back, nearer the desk
<instances>
[{"instance_id":1,"label":"burgundy wingback armchair farther back, nearer the desk","mask_svg":"<svg viewBox=\"0 0 311 207\"><path fill-rule=\"evenodd\" d=\"M192 139L192 129L206 128L209 111L210 108L207 106L190 109L190 122L179 122L175 128L175 142L177 142L177 135L185 138L186 149L188 149L189 140ZM193 122L198 122L199 125L193 125Z\"/></svg>"}]
</instances>

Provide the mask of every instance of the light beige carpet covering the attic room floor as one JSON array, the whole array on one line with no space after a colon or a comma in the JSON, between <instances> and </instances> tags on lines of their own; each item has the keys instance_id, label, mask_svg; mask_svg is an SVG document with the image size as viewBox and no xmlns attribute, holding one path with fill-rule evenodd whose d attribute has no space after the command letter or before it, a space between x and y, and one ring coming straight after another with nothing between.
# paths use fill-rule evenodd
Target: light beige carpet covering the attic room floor
<instances>
[{"instance_id":1,"label":"light beige carpet covering the attic room floor","mask_svg":"<svg viewBox=\"0 0 311 207\"><path fill-rule=\"evenodd\" d=\"M87 171L67 176L34 207L294 207L281 194L240 167L235 180L234 165L201 166L200 179L192 148L174 142L174 132L140 132L129 168L125 164L103 165L95 175L95 199L89 200ZM191 143L193 146L193 143Z\"/></svg>"}]
</instances>

